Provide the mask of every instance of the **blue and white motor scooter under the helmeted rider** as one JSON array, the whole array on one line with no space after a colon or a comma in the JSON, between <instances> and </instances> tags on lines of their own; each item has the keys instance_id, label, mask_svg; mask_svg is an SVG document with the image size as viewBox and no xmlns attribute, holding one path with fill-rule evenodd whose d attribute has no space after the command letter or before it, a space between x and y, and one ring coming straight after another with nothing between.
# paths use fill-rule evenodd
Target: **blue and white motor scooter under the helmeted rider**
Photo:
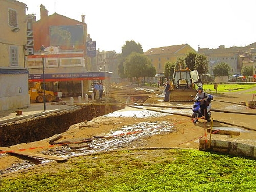
<instances>
[{"instance_id":1,"label":"blue and white motor scooter under the helmeted rider","mask_svg":"<svg viewBox=\"0 0 256 192\"><path fill-rule=\"evenodd\" d=\"M214 97L210 94L208 94L208 99L207 99L207 113L208 113L208 119L207 121L209 122L211 119L211 108L212 108L212 104L211 101L212 99L214 99ZM193 96L192 96L193 97ZM200 97L195 98L195 102L193 104L192 107L192 115L191 115L191 119L193 120L194 123L196 123L198 121L198 118L201 118L202 116L204 116L204 114L201 113L201 108L200 108Z\"/></svg>"}]
</instances>

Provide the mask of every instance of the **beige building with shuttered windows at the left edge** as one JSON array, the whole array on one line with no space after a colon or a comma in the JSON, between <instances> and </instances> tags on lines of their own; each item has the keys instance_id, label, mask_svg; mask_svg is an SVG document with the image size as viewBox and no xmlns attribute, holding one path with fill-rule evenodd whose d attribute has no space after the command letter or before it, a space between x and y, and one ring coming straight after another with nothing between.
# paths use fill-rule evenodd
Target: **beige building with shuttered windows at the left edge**
<instances>
[{"instance_id":1,"label":"beige building with shuttered windows at the left edge","mask_svg":"<svg viewBox=\"0 0 256 192\"><path fill-rule=\"evenodd\" d=\"M0 1L0 111L30 106L25 65L26 4Z\"/></svg>"}]
</instances>

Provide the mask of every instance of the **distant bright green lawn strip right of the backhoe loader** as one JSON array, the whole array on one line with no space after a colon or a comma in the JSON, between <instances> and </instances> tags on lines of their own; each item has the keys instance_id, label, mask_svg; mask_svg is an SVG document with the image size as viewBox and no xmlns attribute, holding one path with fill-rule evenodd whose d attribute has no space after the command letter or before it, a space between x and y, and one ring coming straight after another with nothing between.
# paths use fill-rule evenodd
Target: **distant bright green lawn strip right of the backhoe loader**
<instances>
[{"instance_id":1,"label":"distant bright green lawn strip right of the backhoe loader","mask_svg":"<svg viewBox=\"0 0 256 192\"><path fill-rule=\"evenodd\" d=\"M204 84L204 90L214 89L214 84ZM218 84L217 91L219 92L239 92L244 90L250 90L250 88L256 87L256 84ZM256 91L248 91L246 93L256 93Z\"/></svg>"}]
</instances>

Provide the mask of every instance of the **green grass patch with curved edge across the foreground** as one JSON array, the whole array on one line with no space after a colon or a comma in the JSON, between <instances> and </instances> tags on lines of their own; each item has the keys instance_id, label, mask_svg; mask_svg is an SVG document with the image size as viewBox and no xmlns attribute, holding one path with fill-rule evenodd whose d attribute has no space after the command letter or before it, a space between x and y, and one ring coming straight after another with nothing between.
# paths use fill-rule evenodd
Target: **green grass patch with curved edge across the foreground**
<instances>
[{"instance_id":1,"label":"green grass patch with curved edge across the foreground","mask_svg":"<svg viewBox=\"0 0 256 192\"><path fill-rule=\"evenodd\" d=\"M1 179L0 191L248 192L256 191L255 180L252 159L197 150L134 150L45 165Z\"/></svg>"}]
</instances>

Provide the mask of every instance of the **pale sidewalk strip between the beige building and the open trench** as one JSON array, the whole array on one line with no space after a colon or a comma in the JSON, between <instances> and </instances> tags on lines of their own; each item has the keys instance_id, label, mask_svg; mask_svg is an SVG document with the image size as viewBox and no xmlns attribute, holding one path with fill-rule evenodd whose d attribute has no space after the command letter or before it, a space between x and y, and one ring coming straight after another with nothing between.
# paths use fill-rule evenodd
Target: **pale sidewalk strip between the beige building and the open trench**
<instances>
[{"instance_id":1,"label":"pale sidewalk strip between the beige building and the open trench","mask_svg":"<svg viewBox=\"0 0 256 192\"><path fill-rule=\"evenodd\" d=\"M46 103L46 110L44 111L43 103L31 103L30 107L22 109L9 109L6 111L0 111L0 125L3 123L13 122L16 120L33 118L35 116L45 115L47 113L63 111L66 109L78 108L79 106L70 106L70 102L66 102L67 105L51 105ZM22 115L17 115L17 110L22 111Z\"/></svg>"}]
</instances>

